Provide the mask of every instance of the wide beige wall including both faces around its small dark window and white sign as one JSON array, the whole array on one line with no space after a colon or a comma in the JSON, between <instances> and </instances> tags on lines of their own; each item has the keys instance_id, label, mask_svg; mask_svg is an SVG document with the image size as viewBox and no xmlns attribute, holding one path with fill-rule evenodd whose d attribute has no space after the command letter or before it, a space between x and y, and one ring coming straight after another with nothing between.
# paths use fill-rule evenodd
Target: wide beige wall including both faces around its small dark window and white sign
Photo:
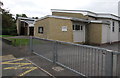
<instances>
[{"instance_id":1,"label":"wide beige wall including both faces around its small dark window and white sign","mask_svg":"<svg viewBox=\"0 0 120 78\"><path fill-rule=\"evenodd\" d=\"M43 34L38 33L38 27L43 26ZM67 26L67 31L62 31L62 26ZM56 18L46 18L35 23L34 36L59 40L65 42L73 42L72 21Z\"/></svg>"}]
</instances>

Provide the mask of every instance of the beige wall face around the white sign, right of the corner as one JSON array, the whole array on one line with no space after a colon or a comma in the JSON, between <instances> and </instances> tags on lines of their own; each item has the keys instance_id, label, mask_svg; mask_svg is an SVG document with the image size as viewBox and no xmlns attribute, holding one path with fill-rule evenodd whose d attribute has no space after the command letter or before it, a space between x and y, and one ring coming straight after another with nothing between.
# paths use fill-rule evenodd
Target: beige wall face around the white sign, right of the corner
<instances>
[{"instance_id":1,"label":"beige wall face around the white sign, right of the corner","mask_svg":"<svg viewBox=\"0 0 120 78\"><path fill-rule=\"evenodd\" d=\"M62 26L67 26L67 31L62 31ZM73 42L71 20L49 18L49 28L49 39Z\"/></svg>"}]
</instances>

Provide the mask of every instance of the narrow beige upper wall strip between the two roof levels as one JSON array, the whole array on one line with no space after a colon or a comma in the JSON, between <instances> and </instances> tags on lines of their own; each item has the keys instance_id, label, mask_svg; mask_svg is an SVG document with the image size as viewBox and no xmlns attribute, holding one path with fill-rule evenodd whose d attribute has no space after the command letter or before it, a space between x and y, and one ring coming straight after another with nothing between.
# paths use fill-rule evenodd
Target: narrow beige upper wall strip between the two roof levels
<instances>
[{"instance_id":1,"label":"narrow beige upper wall strip between the two roof levels","mask_svg":"<svg viewBox=\"0 0 120 78\"><path fill-rule=\"evenodd\" d=\"M80 13L52 12L52 15L87 19L87 16L84 16L83 14Z\"/></svg>"}]
</instances>

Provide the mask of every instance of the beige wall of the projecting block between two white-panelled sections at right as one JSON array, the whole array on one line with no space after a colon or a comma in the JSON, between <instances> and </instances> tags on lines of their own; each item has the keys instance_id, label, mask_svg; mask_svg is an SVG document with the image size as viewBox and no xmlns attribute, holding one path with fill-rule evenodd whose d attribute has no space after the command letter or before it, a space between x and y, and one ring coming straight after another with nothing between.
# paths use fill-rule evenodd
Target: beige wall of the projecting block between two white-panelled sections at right
<instances>
[{"instance_id":1,"label":"beige wall of the projecting block between two white-panelled sections at right","mask_svg":"<svg viewBox=\"0 0 120 78\"><path fill-rule=\"evenodd\" d=\"M91 23L88 25L87 40L89 44L101 44L102 24Z\"/></svg>"}]
</instances>

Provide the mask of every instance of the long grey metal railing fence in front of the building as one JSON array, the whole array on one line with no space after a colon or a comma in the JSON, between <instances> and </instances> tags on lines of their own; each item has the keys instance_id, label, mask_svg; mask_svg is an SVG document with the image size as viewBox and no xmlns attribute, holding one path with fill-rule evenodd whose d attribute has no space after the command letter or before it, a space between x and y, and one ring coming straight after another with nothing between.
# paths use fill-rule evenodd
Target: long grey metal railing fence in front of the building
<instances>
[{"instance_id":1,"label":"long grey metal railing fence in front of the building","mask_svg":"<svg viewBox=\"0 0 120 78\"><path fill-rule=\"evenodd\" d=\"M120 53L68 42L31 37L31 50L83 76L120 76Z\"/></svg>"}]
</instances>

